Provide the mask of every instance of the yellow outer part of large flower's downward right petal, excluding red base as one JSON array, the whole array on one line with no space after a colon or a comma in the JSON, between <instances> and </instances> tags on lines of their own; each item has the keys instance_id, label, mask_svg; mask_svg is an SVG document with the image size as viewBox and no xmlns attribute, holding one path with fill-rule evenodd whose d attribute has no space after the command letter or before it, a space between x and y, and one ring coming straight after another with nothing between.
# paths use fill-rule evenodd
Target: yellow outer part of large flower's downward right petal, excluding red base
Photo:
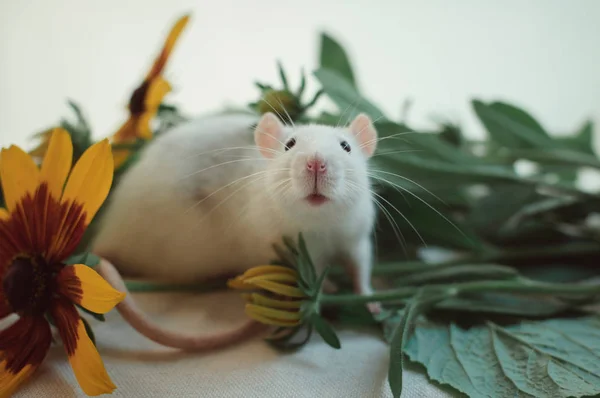
<instances>
[{"instance_id":1,"label":"yellow outer part of large flower's downward right petal, excluding red base","mask_svg":"<svg viewBox=\"0 0 600 398\"><path fill-rule=\"evenodd\" d=\"M117 387L110 380L81 319L77 323L77 336L77 347L69 356L69 362L79 386L89 396L112 393Z\"/></svg>"}]
</instances>

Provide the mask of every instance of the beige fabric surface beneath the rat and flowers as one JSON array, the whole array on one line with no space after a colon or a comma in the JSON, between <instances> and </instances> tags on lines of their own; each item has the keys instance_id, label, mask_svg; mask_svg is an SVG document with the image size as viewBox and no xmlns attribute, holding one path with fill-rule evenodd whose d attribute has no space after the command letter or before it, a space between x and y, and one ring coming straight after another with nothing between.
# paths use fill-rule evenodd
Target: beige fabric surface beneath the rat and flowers
<instances>
[{"instance_id":1,"label":"beige fabric surface beneath the rat and flowers","mask_svg":"<svg viewBox=\"0 0 600 398\"><path fill-rule=\"evenodd\" d=\"M231 328L245 319L235 292L136 294L154 319L187 332ZM183 353L137 334L112 311L92 321L98 349L117 385L116 397L391 397L388 346L368 330L339 332L341 350L319 336L292 354L279 353L260 338L210 353ZM451 397L419 371L405 374L403 397ZM34 377L15 395L83 397L61 346L53 346Z\"/></svg>"}]
</instances>

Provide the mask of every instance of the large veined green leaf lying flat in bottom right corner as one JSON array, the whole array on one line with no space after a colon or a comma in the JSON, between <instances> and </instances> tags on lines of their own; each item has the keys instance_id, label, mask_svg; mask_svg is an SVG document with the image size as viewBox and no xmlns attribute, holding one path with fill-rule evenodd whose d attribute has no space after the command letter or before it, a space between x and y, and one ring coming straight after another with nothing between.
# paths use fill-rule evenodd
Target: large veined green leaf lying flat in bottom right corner
<instances>
[{"instance_id":1,"label":"large veined green leaf lying flat in bottom right corner","mask_svg":"<svg viewBox=\"0 0 600 398\"><path fill-rule=\"evenodd\" d=\"M600 394L597 318L553 319L461 329L419 324L406 346L429 377L470 397Z\"/></svg>"}]
</instances>

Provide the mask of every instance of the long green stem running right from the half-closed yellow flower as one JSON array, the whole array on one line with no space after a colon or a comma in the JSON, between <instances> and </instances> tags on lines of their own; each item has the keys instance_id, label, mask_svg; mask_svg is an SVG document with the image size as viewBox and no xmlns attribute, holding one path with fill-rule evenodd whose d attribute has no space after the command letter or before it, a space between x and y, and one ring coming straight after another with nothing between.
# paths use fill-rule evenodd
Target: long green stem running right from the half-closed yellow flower
<instances>
[{"instance_id":1,"label":"long green stem running right from the half-closed yellow flower","mask_svg":"<svg viewBox=\"0 0 600 398\"><path fill-rule=\"evenodd\" d=\"M320 302L324 305L340 305L363 304L373 301L399 301L414 296L420 289L422 289L422 287L403 287L365 296L355 294L323 295L321 296ZM551 294L559 296L600 295L600 285L544 283L525 278L512 281L478 281L453 283L449 285L430 285L426 289L434 290L438 293L445 293L448 297L460 295L462 293L487 293L492 291L505 293Z\"/></svg>"}]
</instances>

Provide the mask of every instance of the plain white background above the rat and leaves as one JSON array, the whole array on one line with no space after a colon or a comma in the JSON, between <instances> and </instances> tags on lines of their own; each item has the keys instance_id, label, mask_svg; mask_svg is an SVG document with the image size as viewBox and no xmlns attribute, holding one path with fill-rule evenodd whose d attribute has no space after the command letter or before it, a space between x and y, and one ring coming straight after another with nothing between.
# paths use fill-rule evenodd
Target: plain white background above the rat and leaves
<instances>
[{"instance_id":1,"label":"plain white background above the rat and leaves","mask_svg":"<svg viewBox=\"0 0 600 398\"><path fill-rule=\"evenodd\" d=\"M481 126L469 101L521 105L552 132L600 121L598 0L1 0L0 145L70 115L111 134L171 24L191 11L167 68L166 98L191 114L254 100L280 58L297 84L317 66L318 34L346 44L367 97L409 122ZM310 86L315 90L314 81Z\"/></svg>"}]
</instances>

